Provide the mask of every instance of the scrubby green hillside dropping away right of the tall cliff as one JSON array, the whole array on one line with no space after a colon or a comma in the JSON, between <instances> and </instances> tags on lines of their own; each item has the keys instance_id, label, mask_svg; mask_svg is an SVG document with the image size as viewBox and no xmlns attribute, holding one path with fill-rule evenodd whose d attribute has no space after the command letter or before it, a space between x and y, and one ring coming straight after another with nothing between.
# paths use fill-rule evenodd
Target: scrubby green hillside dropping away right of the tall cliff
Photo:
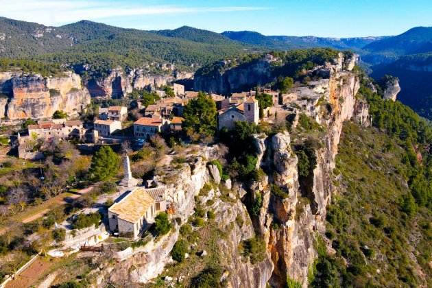
<instances>
[{"instance_id":1,"label":"scrubby green hillside dropping away right of the tall cliff","mask_svg":"<svg viewBox=\"0 0 432 288\"><path fill-rule=\"evenodd\" d=\"M401 197L409 193L400 176L403 154L383 132L346 123L335 169L339 195L326 226L335 256L320 256L314 287L432 285L432 213L402 212Z\"/></svg>"}]
</instances>

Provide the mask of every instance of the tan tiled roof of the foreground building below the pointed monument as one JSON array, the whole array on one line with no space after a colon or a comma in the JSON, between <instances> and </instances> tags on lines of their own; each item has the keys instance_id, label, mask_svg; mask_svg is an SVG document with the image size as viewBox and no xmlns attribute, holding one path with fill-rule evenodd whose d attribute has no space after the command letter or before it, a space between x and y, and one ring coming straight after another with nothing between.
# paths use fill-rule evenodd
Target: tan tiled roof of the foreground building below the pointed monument
<instances>
[{"instance_id":1,"label":"tan tiled roof of the foreground building below the pointed monument","mask_svg":"<svg viewBox=\"0 0 432 288\"><path fill-rule=\"evenodd\" d=\"M145 190L146 189L141 187L136 187L122 200L112 204L112 206L108 208L108 211L115 213L120 219L130 223L136 223L154 203L154 198Z\"/></svg>"}]
</instances>

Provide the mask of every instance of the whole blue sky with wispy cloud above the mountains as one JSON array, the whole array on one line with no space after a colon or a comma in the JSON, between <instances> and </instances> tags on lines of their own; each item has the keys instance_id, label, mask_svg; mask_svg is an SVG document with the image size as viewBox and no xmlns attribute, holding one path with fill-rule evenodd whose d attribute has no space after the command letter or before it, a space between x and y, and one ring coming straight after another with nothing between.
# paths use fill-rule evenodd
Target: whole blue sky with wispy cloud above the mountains
<instances>
[{"instance_id":1,"label":"whole blue sky with wispy cloud above the mountains","mask_svg":"<svg viewBox=\"0 0 432 288\"><path fill-rule=\"evenodd\" d=\"M432 26L432 0L0 0L0 16L59 26L80 20L136 29L357 37ZM1 29L1 27L0 27Z\"/></svg>"}]
</instances>

